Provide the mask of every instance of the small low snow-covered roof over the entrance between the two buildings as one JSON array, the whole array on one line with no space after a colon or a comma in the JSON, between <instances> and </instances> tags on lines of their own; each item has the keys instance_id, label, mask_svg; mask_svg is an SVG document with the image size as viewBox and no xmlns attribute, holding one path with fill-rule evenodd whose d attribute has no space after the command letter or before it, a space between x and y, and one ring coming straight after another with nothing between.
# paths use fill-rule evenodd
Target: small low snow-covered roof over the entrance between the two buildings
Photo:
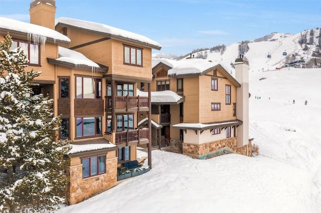
<instances>
[{"instance_id":1,"label":"small low snow-covered roof over the entrance between the two buildings","mask_svg":"<svg viewBox=\"0 0 321 213\"><path fill-rule=\"evenodd\" d=\"M148 92L140 91L139 89L136 89L136 93L139 96L143 96L143 97L148 96ZM151 103L154 103L154 104L158 104L158 103L178 104L180 102L183 102L184 99L185 99L184 96L180 96L176 92L171 90L151 92Z\"/></svg>"}]
</instances>

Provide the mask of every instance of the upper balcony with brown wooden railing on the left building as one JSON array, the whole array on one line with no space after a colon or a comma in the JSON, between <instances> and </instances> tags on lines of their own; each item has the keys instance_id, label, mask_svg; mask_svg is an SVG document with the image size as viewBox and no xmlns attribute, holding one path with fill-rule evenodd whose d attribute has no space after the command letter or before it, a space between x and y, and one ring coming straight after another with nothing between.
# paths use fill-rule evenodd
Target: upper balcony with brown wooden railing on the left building
<instances>
[{"instance_id":1,"label":"upper balcony with brown wooden railing on the left building","mask_svg":"<svg viewBox=\"0 0 321 213\"><path fill-rule=\"evenodd\" d=\"M115 96L114 106L111 104L111 96L105 96L107 109L114 107L115 111L139 111L148 109L148 97L141 96Z\"/></svg>"}]
</instances>

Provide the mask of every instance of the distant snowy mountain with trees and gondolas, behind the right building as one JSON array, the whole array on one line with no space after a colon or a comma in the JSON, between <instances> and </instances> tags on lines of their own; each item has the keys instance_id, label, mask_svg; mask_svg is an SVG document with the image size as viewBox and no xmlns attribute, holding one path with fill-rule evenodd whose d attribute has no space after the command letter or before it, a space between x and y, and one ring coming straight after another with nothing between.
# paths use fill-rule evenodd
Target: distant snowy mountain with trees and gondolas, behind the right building
<instances>
[{"instance_id":1,"label":"distant snowy mountain with trees and gondolas, behind the right building","mask_svg":"<svg viewBox=\"0 0 321 213\"><path fill-rule=\"evenodd\" d=\"M254 40L245 40L229 46L223 44L201 51L192 51L176 59L205 58L222 64L231 72L234 71L234 61L240 54L249 60L250 70L275 70L293 61L296 62L292 63L292 66L321 67L320 35L321 30L318 27L296 34L272 32ZM153 59L156 57L175 58L165 53L153 54Z\"/></svg>"}]
</instances>

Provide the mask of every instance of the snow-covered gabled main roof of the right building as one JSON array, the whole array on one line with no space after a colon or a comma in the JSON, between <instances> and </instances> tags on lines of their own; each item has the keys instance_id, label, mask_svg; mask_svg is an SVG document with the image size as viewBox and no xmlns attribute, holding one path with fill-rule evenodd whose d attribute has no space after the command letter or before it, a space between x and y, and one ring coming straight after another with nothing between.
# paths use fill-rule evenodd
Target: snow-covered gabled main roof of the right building
<instances>
[{"instance_id":1,"label":"snow-covered gabled main roof of the right building","mask_svg":"<svg viewBox=\"0 0 321 213\"><path fill-rule=\"evenodd\" d=\"M181 60L159 58L152 62L153 71L158 70L160 66L168 69L169 77L201 76L220 67L223 75L225 75L224 77L234 82L237 86L241 86L220 63L214 63L202 58L184 58ZM153 74L155 73L153 72Z\"/></svg>"}]
</instances>

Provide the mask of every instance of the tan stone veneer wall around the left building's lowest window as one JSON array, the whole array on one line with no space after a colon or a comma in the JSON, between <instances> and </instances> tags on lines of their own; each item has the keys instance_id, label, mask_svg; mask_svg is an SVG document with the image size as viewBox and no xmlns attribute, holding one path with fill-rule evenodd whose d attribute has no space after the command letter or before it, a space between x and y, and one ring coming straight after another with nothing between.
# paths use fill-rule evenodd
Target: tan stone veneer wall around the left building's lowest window
<instances>
[{"instance_id":1,"label":"tan stone veneer wall around the left building's lowest window","mask_svg":"<svg viewBox=\"0 0 321 213\"><path fill-rule=\"evenodd\" d=\"M82 178L82 164L67 168L69 180L66 199L69 205L102 192L117 181L117 158L106 159L106 173Z\"/></svg>"}]
</instances>

